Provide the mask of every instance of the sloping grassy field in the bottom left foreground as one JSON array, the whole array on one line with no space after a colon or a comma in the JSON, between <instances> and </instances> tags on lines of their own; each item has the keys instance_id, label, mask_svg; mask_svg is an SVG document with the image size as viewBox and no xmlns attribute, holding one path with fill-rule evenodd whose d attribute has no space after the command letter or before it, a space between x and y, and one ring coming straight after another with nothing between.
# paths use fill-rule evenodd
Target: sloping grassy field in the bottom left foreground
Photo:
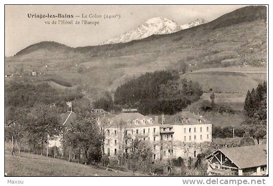
<instances>
[{"instance_id":1,"label":"sloping grassy field in the bottom left foreground","mask_svg":"<svg viewBox=\"0 0 273 186\"><path fill-rule=\"evenodd\" d=\"M8 176L130 176L142 175L127 171L106 171L102 166L86 166L42 155L21 153L21 157L5 152L5 173Z\"/></svg>"}]
</instances>

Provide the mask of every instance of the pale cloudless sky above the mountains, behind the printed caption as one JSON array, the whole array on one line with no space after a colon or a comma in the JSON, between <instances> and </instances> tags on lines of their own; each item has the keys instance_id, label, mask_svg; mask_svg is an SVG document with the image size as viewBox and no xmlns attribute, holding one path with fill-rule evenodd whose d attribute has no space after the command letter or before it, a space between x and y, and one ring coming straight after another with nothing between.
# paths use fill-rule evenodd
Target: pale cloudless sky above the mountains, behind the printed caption
<instances>
[{"instance_id":1,"label":"pale cloudless sky above the mountains, behind the printed caption","mask_svg":"<svg viewBox=\"0 0 273 186\"><path fill-rule=\"evenodd\" d=\"M243 5L5 5L5 56L41 41L55 41L70 47L94 46L130 31L152 17L166 17L179 25L204 18L212 21ZM31 18L31 15L74 15L73 18ZM101 15L101 18L82 18ZM104 18L119 15L119 18ZM76 17L80 16L80 17ZM72 25L51 24L55 20ZM80 24L75 24L76 20ZM82 20L99 22L96 26ZM45 24L49 21L50 24Z\"/></svg>"}]
</instances>

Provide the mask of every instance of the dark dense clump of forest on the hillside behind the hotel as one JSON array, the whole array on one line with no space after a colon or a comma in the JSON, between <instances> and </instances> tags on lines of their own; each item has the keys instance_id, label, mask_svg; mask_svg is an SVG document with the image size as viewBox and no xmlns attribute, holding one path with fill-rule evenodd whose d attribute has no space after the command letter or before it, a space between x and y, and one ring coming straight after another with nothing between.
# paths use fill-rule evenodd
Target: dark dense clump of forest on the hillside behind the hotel
<instances>
[{"instance_id":1,"label":"dark dense clump of forest on the hillside behind the hotel","mask_svg":"<svg viewBox=\"0 0 273 186\"><path fill-rule=\"evenodd\" d=\"M115 105L106 96L94 102L94 106L108 111L137 108L146 115L174 114L197 101L202 93L197 82L181 79L176 71L155 71L119 86L114 94Z\"/></svg>"}]
</instances>

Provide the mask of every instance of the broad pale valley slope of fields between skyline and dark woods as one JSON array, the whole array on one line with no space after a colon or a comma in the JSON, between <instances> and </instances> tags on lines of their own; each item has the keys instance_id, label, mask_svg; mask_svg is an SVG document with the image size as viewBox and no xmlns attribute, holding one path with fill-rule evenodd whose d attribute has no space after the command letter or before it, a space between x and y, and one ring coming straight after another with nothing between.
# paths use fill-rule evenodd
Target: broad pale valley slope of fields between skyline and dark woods
<instances>
[{"instance_id":1,"label":"broad pale valley slope of fields between skyline and dark woods","mask_svg":"<svg viewBox=\"0 0 273 186\"><path fill-rule=\"evenodd\" d=\"M240 67L243 62L248 66L266 64L266 25L266 7L248 6L206 24L128 43L72 48L41 42L6 57L5 73L31 79L29 73L35 70L41 78L54 76L69 81L97 99L143 73L181 70L183 61L187 65L184 78L199 82L205 92L212 88L217 93L246 93L265 80L266 74L197 70L228 66L244 69Z\"/></svg>"}]
</instances>

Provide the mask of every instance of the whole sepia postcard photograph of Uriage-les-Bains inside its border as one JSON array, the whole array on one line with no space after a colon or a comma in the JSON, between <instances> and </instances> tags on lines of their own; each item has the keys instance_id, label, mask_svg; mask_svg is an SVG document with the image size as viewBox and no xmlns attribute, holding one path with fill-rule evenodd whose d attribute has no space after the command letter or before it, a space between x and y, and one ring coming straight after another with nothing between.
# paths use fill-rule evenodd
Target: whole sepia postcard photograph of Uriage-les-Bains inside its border
<instances>
[{"instance_id":1,"label":"whole sepia postcard photograph of Uriage-les-Bains inside its border","mask_svg":"<svg viewBox=\"0 0 273 186\"><path fill-rule=\"evenodd\" d=\"M4 5L4 176L262 183L268 7Z\"/></svg>"}]
</instances>

